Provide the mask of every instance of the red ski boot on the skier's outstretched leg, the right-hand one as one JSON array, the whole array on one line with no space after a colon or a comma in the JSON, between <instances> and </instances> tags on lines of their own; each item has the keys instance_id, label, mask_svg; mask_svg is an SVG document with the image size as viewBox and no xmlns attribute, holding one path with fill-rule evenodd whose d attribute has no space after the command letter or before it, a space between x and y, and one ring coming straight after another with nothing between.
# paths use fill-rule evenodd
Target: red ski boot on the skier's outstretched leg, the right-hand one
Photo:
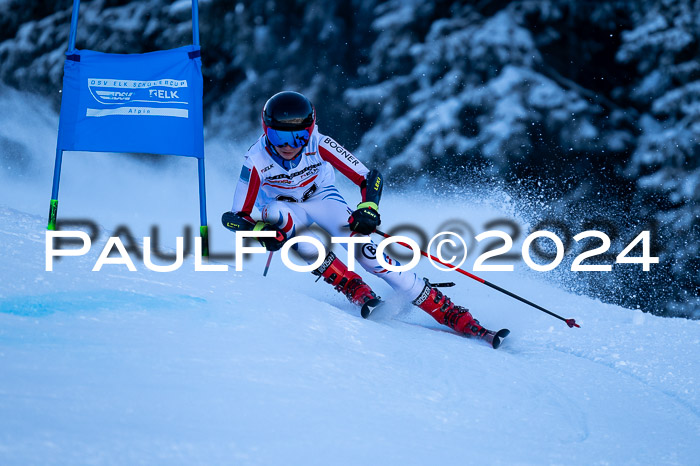
<instances>
[{"instance_id":1,"label":"red ski boot on the skier's outstretched leg, the right-hand one","mask_svg":"<svg viewBox=\"0 0 700 466\"><path fill-rule=\"evenodd\" d=\"M505 337L507 333L504 334L502 330L496 333L485 329L478 320L472 317L468 309L455 306L450 298L442 294L437 287L432 286L427 278L424 280L425 287L421 294L413 300L413 304L433 316L433 319L439 323L447 325L459 333L482 338L494 348L500 345L500 338Z\"/></svg>"}]
</instances>

